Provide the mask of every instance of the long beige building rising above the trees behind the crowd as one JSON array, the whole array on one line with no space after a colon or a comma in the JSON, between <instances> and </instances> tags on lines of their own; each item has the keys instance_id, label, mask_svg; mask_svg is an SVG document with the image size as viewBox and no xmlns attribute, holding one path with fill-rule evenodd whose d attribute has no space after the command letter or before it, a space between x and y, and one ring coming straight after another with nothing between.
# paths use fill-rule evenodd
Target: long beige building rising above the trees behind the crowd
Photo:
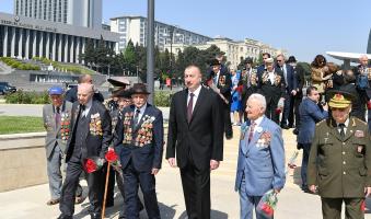
<instances>
[{"instance_id":1,"label":"long beige building rising above the trees behind the crowd","mask_svg":"<svg viewBox=\"0 0 371 219\"><path fill-rule=\"evenodd\" d=\"M221 51L225 53L227 61L233 67L239 66L241 58L245 59L250 57L256 61L259 57L259 54L263 53L269 53L273 57L277 56L278 54L283 54L285 56L288 54L285 49L277 49L259 41L251 38L246 38L243 42L235 42L230 38L217 36L206 44L193 46L198 49L207 49L211 45L218 46ZM183 51L189 45L185 44L173 44L173 54L176 56L179 50ZM170 49L170 45L166 45L165 48Z\"/></svg>"}]
</instances>

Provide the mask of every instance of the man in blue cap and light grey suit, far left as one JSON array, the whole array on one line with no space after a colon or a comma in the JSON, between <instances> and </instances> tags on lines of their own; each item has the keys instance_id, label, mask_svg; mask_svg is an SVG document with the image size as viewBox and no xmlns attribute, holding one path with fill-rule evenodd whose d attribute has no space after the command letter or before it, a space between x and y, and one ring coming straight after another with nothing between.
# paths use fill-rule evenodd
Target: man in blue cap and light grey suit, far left
<instances>
[{"instance_id":1,"label":"man in blue cap and light grey suit, far left","mask_svg":"<svg viewBox=\"0 0 371 219\"><path fill-rule=\"evenodd\" d=\"M65 91L60 87L51 87L48 94L51 104L44 105L43 120L46 130L46 165L51 198L46 204L56 205L59 203L61 194L62 174L60 166L70 132L69 123L72 104L65 101Z\"/></svg>"}]
</instances>

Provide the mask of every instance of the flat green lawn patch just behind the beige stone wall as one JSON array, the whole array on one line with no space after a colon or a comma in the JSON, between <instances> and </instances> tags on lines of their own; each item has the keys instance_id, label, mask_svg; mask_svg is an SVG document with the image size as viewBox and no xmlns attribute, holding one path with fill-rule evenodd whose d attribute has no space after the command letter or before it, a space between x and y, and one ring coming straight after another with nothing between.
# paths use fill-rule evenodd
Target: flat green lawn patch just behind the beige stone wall
<instances>
[{"instance_id":1,"label":"flat green lawn patch just behind the beige stone wall","mask_svg":"<svg viewBox=\"0 0 371 219\"><path fill-rule=\"evenodd\" d=\"M44 131L43 118L33 116L0 116L0 135Z\"/></svg>"}]
</instances>

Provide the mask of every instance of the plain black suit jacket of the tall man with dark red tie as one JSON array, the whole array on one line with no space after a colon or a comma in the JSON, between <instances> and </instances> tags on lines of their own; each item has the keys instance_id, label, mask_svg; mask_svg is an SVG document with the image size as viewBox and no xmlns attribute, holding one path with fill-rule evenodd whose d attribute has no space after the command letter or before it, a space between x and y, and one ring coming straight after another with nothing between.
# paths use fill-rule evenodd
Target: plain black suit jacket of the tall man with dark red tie
<instances>
[{"instance_id":1,"label":"plain black suit jacket of the tall man with dark red tie","mask_svg":"<svg viewBox=\"0 0 371 219\"><path fill-rule=\"evenodd\" d=\"M217 94L201 88L187 122L188 90L174 94L172 99L166 159L175 158L179 168L186 166L189 155L199 170L210 168L210 160L223 159L223 114Z\"/></svg>"}]
</instances>

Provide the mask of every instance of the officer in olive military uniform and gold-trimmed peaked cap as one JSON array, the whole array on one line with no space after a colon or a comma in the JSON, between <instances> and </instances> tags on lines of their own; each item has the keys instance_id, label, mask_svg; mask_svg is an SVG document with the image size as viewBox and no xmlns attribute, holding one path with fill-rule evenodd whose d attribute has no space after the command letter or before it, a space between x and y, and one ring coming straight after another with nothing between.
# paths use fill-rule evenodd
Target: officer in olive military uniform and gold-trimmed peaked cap
<instances>
[{"instance_id":1,"label":"officer in olive military uniform and gold-trimmed peaked cap","mask_svg":"<svg viewBox=\"0 0 371 219\"><path fill-rule=\"evenodd\" d=\"M316 125L308 165L308 185L322 200L324 219L364 218L371 194L371 141L364 122L349 116L352 94L332 91L332 118Z\"/></svg>"}]
</instances>

